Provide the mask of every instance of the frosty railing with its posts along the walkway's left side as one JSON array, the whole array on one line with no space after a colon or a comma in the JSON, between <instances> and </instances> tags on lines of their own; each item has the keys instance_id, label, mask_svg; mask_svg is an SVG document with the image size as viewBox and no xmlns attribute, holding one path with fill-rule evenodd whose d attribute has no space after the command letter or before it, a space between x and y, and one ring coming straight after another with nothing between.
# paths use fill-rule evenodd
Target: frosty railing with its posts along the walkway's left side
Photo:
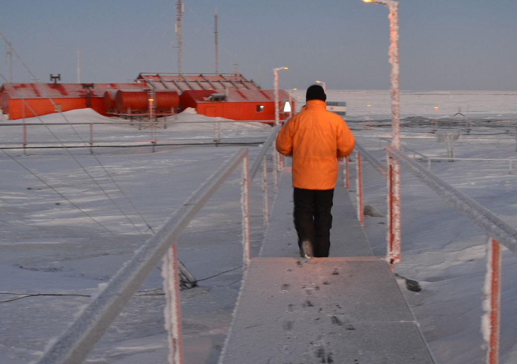
<instances>
[{"instance_id":1,"label":"frosty railing with its posts along the walkway's left side","mask_svg":"<svg viewBox=\"0 0 517 364\"><path fill-rule=\"evenodd\" d=\"M178 260L176 241L179 234L195 214L205 205L230 174L242 165L242 260L244 270L250 260L249 233L249 188L257 170L263 166L264 214L267 209L266 154L272 145L279 127L264 143L251 173L248 170L248 150L240 149L196 193L190 197L169 219L156 235L148 239L134 257L121 267L113 278L99 286L96 296L81 310L80 315L44 352L37 364L78 364L86 359L95 343L103 336L116 316L123 310L131 296L143 284L147 275L163 259L162 275L166 297L165 327L169 332L169 362L183 363L181 350L181 316L179 301ZM273 153L273 160L275 159ZM277 168L273 168L273 173ZM275 187L276 189L276 187ZM267 224L267 218L264 216Z\"/></svg>"}]
</instances>

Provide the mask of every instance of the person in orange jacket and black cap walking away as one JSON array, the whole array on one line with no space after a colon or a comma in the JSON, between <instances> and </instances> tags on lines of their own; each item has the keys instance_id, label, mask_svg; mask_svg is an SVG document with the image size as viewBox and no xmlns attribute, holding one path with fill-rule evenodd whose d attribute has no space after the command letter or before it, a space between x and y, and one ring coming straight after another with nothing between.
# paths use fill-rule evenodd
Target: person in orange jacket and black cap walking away
<instances>
[{"instance_id":1,"label":"person in orange jacket and black cap walking away","mask_svg":"<svg viewBox=\"0 0 517 364\"><path fill-rule=\"evenodd\" d=\"M277 151L293 157L293 217L305 258L329 255L338 158L352 153L355 144L345 121L327 111L326 99L322 86L310 86L306 106L284 124L276 140Z\"/></svg>"}]
</instances>

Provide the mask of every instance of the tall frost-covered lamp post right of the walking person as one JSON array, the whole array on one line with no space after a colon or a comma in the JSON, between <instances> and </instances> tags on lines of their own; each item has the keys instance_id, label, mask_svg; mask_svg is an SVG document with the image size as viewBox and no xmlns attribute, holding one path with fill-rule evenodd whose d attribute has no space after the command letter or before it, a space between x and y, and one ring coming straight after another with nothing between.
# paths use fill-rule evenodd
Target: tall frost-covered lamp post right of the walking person
<instances>
[{"instance_id":1,"label":"tall frost-covered lamp post right of the walking person","mask_svg":"<svg viewBox=\"0 0 517 364\"><path fill-rule=\"evenodd\" d=\"M389 9L390 46L389 63L391 94L391 146L400 149L399 104L399 3L393 0L363 0L365 3L386 5ZM400 263L400 165L389 155L388 164L388 261L393 266Z\"/></svg>"}]
</instances>

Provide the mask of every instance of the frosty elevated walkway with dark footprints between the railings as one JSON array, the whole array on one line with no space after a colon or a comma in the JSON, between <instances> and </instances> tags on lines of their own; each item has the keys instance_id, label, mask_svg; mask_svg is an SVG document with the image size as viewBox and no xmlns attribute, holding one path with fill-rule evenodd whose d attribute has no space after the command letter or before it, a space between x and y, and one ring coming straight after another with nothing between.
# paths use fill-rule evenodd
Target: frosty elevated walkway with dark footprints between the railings
<instances>
[{"instance_id":1,"label":"frosty elevated walkway with dark footprints between the railings","mask_svg":"<svg viewBox=\"0 0 517 364\"><path fill-rule=\"evenodd\" d=\"M292 209L284 168L220 362L434 363L388 264L371 255L345 189L334 194L329 258L298 257Z\"/></svg>"}]
</instances>

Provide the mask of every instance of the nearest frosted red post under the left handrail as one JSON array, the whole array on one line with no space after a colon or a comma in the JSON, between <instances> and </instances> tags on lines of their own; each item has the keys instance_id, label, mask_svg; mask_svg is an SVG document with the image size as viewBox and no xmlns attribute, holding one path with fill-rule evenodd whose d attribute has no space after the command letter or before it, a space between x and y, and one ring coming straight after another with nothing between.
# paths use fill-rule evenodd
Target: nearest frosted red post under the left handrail
<instances>
[{"instance_id":1,"label":"nearest frosted red post under the left handrail","mask_svg":"<svg viewBox=\"0 0 517 364\"><path fill-rule=\"evenodd\" d=\"M169 332L169 364L183 364L181 348L181 304L179 300L179 270L176 244L163 258L163 290L165 293L165 328Z\"/></svg>"}]
</instances>

